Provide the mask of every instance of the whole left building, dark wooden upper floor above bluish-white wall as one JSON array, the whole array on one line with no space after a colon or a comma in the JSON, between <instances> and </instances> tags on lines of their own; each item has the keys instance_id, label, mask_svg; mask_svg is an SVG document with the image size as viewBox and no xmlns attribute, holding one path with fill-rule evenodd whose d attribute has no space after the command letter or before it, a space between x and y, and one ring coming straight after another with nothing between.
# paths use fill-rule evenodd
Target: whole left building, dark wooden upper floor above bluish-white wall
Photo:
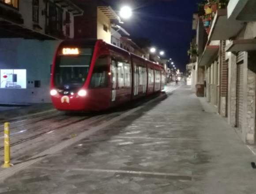
<instances>
[{"instance_id":1,"label":"whole left building, dark wooden upper floor above bluish-white wall","mask_svg":"<svg viewBox=\"0 0 256 194\"><path fill-rule=\"evenodd\" d=\"M55 50L82 14L69 0L0 1L0 103L50 102Z\"/></svg>"}]
</instances>

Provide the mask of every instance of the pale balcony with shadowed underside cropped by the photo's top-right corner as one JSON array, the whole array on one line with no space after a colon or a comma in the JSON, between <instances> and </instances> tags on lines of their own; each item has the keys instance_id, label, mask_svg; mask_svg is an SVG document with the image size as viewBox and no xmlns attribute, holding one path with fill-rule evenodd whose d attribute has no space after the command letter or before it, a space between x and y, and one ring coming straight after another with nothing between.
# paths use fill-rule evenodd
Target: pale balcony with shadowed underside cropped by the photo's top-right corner
<instances>
[{"instance_id":1,"label":"pale balcony with shadowed underside cropped by the photo's top-right corner","mask_svg":"<svg viewBox=\"0 0 256 194\"><path fill-rule=\"evenodd\" d=\"M256 0L230 0L228 4L228 19L240 21L256 21Z\"/></svg>"}]
</instances>

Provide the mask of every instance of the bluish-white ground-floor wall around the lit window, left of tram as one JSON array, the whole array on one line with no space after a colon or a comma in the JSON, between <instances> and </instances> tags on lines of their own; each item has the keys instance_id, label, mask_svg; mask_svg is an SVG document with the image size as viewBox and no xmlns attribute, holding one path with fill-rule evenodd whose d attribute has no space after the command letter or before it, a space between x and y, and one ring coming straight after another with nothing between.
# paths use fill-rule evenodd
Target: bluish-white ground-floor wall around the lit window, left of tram
<instances>
[{"instance_id":1,"label":"bluish-white ground-floor wall around the lit window, left of tram","mask_svg":"<svg viewBox=\"0 0 256 194\"><path fill-rule=\"evenodd\" d=\"M26 89L0 89L0 103L50 102L50 67L59 41L12 38L0 39L0 45L5 45L0 47L0 69L26 69L27 83ZM41 81L39 88L35 80Z\"/></svg>"}]
</instances>

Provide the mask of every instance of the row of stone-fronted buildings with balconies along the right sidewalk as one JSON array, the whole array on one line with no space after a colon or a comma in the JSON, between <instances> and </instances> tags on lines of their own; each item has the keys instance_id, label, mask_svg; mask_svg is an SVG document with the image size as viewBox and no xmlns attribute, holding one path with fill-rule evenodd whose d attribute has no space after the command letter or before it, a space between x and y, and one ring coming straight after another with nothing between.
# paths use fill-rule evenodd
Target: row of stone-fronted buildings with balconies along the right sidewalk
<instances>
[{"instance_id":1,"label":"row of stone-fronted buildings with balconies along the right sidewalk","mask_svg":"<svg viewBox=\"0 0 256 194\"><path fill-rule=\"evenodd\" d=\"M197 39L203 39L200 28L204 28L207 42L203 46L198 42L196 83L205 81L203 96L244 142L255 144L256 2L230 0L228 4L205 5L209 11L207 7L211 11L197 20ZM197 87L196 93L201 93Z\"/></svg>"}]
</instances>

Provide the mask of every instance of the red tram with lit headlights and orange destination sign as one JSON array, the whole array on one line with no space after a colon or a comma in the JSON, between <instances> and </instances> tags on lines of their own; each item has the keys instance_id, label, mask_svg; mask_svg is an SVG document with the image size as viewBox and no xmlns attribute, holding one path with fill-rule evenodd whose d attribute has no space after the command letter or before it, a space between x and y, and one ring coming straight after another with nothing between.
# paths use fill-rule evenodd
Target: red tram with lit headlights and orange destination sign
<instances>
[{"instance_id":1,"label":"red tram with lit headlights and orange destination sign","mask_svg":"<svg viewBox=\"0 0 256 194\"><path fill-rule=\"evenodd\" d=\"M56 109L98 111L160 92L164 68L102 40L63 41L50 94Z\"/></svg>"}]
</instances>

